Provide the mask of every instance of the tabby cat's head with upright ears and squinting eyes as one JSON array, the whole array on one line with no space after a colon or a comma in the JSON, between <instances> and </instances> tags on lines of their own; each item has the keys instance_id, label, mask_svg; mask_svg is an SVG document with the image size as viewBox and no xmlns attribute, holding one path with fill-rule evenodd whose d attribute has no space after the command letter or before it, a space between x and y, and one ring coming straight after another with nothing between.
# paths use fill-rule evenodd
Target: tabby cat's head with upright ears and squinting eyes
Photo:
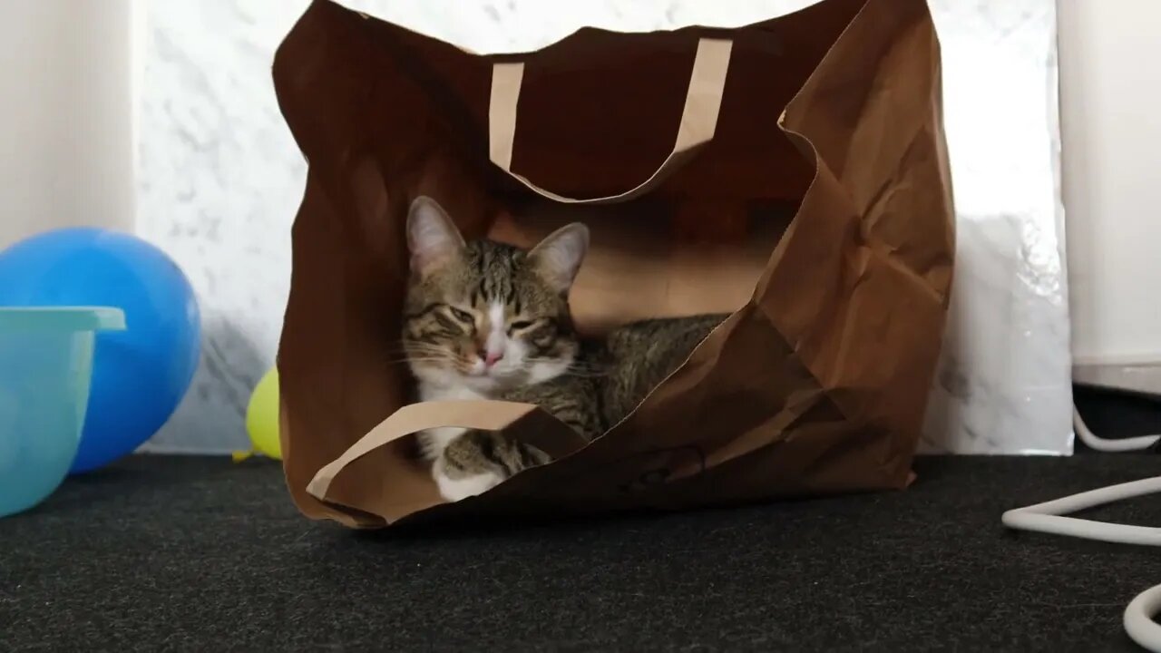
<instances>
[{"instance_id":1,"label":"tabby cat's head with upright ears and squinting eyes","mask_svg":"<svg viewBox=\"0 0 1161 653\"><path fill-rule=\"evenodd\" d=\"M583 224L527 251L466 242L434 200L419 198L408 246L403 345L420 381L488 395L547 381L572 364L579 345L568 293L589 249Z\"/></svg>"}]
</instances>

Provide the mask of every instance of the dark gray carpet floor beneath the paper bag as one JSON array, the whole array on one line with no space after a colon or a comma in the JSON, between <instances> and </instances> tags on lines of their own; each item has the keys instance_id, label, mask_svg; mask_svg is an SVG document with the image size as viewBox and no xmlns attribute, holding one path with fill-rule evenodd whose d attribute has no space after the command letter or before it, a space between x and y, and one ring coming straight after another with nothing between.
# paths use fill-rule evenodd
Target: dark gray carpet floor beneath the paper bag
<instances>
[{"instance_id":1,"label":"dark gray carpet floor beneath the paper bag","mask_svg":"<svg viewBox=\"0 0 1161 653\"><path fill-rule=\"evenodd\" d=\"M904 493L367 534L301 517L268 461L137 457L0 519L0 651L1133 651L1161 555L1000 514L1159 462L929 458Z\"/></svg>"}]
</instances>

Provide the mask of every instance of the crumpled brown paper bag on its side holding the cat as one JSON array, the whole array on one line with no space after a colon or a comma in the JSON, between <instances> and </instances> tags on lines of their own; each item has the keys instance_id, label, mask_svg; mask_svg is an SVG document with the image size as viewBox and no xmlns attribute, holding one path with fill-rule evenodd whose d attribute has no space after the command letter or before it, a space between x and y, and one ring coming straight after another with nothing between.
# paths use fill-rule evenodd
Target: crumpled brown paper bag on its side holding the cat
<instances>
[{"instance_id":1,"label":"crumpled brown paper bag on its side holding the cat","mask_svg":"<svg viewBox=\"0 0 1161 653\"><path fill-rule=\"evenodd\" d=\"M738 29L582 29L477 56L316 1L274 79L309 162L279 352L286 476L351 526L685 508L901 488L954 251L939 48L923 0L824 0ZM593 234L582 331L731 316L585 445L541 410L411 404L404 223ZM441 502L411 436L504 430L557 460Z\"/></svg>"}]
</instances>

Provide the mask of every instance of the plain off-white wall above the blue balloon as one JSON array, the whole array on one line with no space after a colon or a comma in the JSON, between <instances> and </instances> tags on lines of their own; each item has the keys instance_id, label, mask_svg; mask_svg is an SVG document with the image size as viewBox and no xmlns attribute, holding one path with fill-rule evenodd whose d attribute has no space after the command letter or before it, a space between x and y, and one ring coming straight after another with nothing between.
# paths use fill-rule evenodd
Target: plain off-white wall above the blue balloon
<instances>
[{"instance_id":1,"label":"plain off-white wall above the blue balloon","mask_svg":"<svg viewBox=\"0 0 1161 653\"><path fill-rule=\"evenodd\" d=\"M131 0L0 0L0 247L134 224Z\"/></svg>"}]
</instances>

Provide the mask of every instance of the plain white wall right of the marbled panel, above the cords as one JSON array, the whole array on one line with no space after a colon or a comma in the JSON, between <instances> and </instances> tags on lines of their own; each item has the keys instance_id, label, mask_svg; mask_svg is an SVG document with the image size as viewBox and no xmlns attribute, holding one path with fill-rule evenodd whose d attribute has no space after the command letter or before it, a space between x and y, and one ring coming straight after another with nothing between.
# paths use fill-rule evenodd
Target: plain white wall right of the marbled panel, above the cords
<instances>
[{"instance_id":1,"label":"plain white wall right of the marbled panel, above the cords","mask_svg":"<svg viewBox=\"0 0 1161 653\"><path fill-rule=\"evenodd\" d=\"M1059 10L1074 358L1161 365L1161 2Z\"/></svg>"}]
</instances>

